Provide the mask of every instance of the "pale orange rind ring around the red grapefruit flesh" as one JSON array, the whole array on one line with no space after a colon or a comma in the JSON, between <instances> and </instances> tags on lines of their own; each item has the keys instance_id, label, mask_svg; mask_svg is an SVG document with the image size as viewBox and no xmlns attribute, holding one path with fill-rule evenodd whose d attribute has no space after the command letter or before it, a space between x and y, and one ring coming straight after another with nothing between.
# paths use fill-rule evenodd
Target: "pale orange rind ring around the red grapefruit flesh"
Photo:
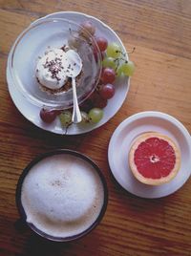
<instances>
[{"instance_id":1,"label":"pale orange rind ring around the red grapefruit flesh","mask_svg":"<svg viewBox=\"0 0 191 256\"><path fill-rule=\"evenodd\" d=\"M135 155L135 152L136 152L136 150L138 148L138 145L141 142L145 141L146 139L150 139L150 138L159 138L159 139L166 140L172 146L172 148L175 151L176 162L175 162L173 170L170 172L170 174L168 176L162 177L160 179L152 179L152 178L145 178L145 177L143 177L138 172L138 168L137 168L137 166L135 164L135 160L134 160L134 155ZM173 139L170 139L166 135L162 135L162 134L159 134L157 132L144 133L144 134L138 136L134 140L134 142L133 142L133 144L131 146L131 149L130 149L130 152L129 152L129 165L130 165L132 173L134 174L134 176L137 178L138 181L140 181L140 182L142 182L144 184L148 184L148 185L161 185L163 183L167 183L169 181L172 181L176 177L177 173L179 172L179 170L180 170L180 149L175 144Z\"/></svg>"}]
</instances>

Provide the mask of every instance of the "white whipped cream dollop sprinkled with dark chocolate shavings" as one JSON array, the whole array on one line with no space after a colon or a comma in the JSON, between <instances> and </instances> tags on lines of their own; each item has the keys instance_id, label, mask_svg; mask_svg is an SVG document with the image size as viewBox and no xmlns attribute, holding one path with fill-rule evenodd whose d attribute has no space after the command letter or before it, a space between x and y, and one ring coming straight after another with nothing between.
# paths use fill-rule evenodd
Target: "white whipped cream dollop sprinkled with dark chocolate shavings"
<instances>
[{"instance_id":1,"label":"white whipped cream dollop sprinkled with dark chocolate shavings","mask_svg":"<svg viewBox=\"0 0 191 256\"><path fill-rule=\"evenodd\" d=\"M53 48L42 56L36 66L36 77L39 83L51 90L61 88L73 73L78 60L71 59L74 50L64 52Z\"/></svg>"}]
</instances>

